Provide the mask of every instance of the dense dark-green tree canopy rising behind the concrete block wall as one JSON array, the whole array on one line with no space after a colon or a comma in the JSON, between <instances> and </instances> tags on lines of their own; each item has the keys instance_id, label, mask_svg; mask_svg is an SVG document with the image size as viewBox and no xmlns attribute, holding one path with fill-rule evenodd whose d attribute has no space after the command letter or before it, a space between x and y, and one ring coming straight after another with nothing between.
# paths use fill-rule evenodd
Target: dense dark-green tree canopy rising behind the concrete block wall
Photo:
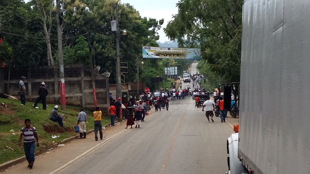
<instances>
[{"instance_id":1,"label":"dense dark-green tree canopy rising behind the concrete block wall","mask_svg":"<svg viewBox=\"0 0 310 174\"><path fill-rule=\"evenodd\" d=\"M133 82L136 64L142 59L141 46L158 46L158 30L164 19L141 17L133 6L117 0L60 2L64 64L90 66L89 33L93 63L101 67L100 72L110 72L110 84L116 83L116 33L111 31L111 21L115 19L113 5L118 3L119 29L127 31L127 35L120 35L121 62L128 63L126 82ZM5 66L58 64L55 0L7 0L0 4L0 12L0 61ZM142 80L164 73L162 60L143 61Z\"/></svg>"}]
</instances>

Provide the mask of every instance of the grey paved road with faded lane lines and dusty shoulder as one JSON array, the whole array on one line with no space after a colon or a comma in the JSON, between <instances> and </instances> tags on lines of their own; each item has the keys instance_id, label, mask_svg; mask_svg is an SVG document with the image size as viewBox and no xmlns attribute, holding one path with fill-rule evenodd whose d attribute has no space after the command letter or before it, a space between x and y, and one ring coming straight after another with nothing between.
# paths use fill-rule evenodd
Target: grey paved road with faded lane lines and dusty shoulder
<instances>
[{"instance_id":1,"label":"grey paved road with faded lane lines and dusty shoulder","mask_svg":"<svg viewBox=\"0 0 310 174\"><path fill-rule=\"evenodd\" d=\"M196 73L196 69L192 68L191 72ZM214 123L208 123L205 112L194 105L191 97L186 97L171 102L169 111L154 112L152 108L141 128L125 131L126 123L122 123L106 133L104 140L94 141L88 136L73 141L48 154L49 157L37 158L33 169L21 163L6 173L225 173L228 171L226 140L238 119L228 118L228 122L221 123L215 117Z\"/></svg>"}]
</instances>

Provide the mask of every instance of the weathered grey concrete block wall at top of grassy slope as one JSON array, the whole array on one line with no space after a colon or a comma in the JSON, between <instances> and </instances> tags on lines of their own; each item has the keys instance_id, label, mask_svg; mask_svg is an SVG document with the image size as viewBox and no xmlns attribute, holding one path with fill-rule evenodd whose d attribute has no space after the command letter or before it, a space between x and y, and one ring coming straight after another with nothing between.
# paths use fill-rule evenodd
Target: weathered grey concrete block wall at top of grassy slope
<instances>
[{"instance_id":1,"label":"weathered grey concrete block wall at top of grassy slope","mask_svg":"<svg viewBox=\"0 0 310 174\"><path fill-rule=\"evenodd\" d=\"M42 81L47 85L49 95L47 103L60 103L59 67L11 67L9 90L7 91L9 68L0 68L0 92L20 98L17 91L21 76L25 76L26 100L34 102L38 97L38 89ZM66 104L93 108L93 89L91 71L81 64L65 65ZM109 82L108 77L94 72L97 106L108 113Z\"/></svg>"}]
</instances>

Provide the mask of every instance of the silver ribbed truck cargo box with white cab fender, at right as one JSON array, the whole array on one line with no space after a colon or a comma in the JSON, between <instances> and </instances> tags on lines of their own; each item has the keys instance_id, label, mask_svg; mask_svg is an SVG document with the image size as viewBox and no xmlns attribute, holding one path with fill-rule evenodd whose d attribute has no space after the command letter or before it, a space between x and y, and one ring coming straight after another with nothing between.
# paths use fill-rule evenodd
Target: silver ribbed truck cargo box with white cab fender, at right
<instances>
[{"instance_id":1,"label":"silver ribbed truck cargo box with white cab fender, at right","mask_svg":"<svg viewBox=\"0 0 310 174\"><path fill-rule=\"evenodd\" d=\"M244 0L230 174L310 174L310 0Z\"/></svg>"}]
</instances>

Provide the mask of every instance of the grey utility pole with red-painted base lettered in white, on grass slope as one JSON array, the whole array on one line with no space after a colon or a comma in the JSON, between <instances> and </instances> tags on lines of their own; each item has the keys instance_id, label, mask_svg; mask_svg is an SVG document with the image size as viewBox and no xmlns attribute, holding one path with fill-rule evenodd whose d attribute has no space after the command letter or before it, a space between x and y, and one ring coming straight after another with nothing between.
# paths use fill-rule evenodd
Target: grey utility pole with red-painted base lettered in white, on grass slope
<instances>
[{"instance_id":1,"label":"grey utility pole with red-painted base lettered in white, on grass slope","mask_svg":"<svg viewBox=\"0 0 310 174\"><path fill-rule=\"evenodd\" d=\"M60 107L62 110L66 110L66 91L64 87L64 57L62 50L62 22L60 11L60 0L56 0L57 8L57 38L58 38L58 58L59 58L59 87L60 87Z\"/></svg>"}]
</instances>

